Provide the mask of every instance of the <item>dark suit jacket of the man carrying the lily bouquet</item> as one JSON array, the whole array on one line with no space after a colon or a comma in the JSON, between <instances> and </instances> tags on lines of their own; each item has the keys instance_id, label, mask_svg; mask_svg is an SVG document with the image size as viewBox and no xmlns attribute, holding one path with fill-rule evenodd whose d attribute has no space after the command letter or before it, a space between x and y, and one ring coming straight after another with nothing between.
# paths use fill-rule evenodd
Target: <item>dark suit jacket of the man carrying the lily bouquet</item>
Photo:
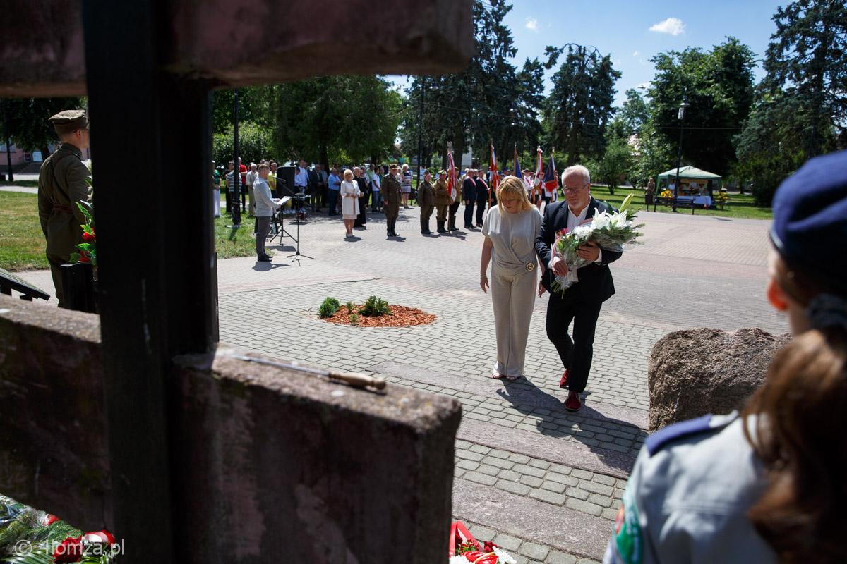
<instances>
[{"instance_id":1,"label":"dark suit jacket of the man carrying the lily bouquet","mask_svg":"<svg viewBox=\"0 0 847 564\"><path fill-rule=\"evenodd\" d=\"M595 213L602 213L603 211L612 213L614 210L611 206L597 201L594 196L591 196L585 219L590 219L595 216ZM548 204L544 210L544 220L541 222L538 237L535 238L535 252L546 268L541 283L547 292L551 292L550 285L554 280L553 270L548 267L552 258L550 247L556 240L556 232L562 231L565 227L567 227L567 201L561 200ZM619 259L623 253L606 249L601 250L603 254L601 263L593 262L590 265L583 266L578 271L579 287L582 289L585 302L588 304L601 304L615 293L615 283L612 282L612 271L609 270L608 265L610 262Z\"/></svg>"}]
</instances>

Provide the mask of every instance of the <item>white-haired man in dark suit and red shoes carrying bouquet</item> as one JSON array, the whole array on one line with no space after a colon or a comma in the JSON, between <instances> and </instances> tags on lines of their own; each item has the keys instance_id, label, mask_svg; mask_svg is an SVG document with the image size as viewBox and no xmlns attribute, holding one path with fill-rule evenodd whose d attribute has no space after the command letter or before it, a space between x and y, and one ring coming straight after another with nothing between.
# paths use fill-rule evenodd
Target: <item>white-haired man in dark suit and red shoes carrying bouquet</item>
<instances>
[{"instance_id":1,"label":"white-haired man in dark suit and red shoes carrying bouquet","mask_svg":"<svg viewBox=\"0 0 847 564\"><path fill-rule=\"evenodd\" d=\"M579 247L577 254L590 260L591 264L574 271L568 271L565 262L552 253L551 245L556 240L556 232L565 228L572 230L584 222L590 222L596 214L613 211L611 206L595 200L591 195L590 173L581 165L567 167L562 172L562 186L565 200L546 205L544 220L535 238L535 252L546 267L539 295L544 290L551 292L547 303L547 338L556 346L565 368L559 387L569 391L565 408L568 411L579 411L582 408L580 394L585 390L591 370L595 326L600 317L600 308L615 293L608 265L619 259L621 253L602 250L595 243L584 244ZM570 277L573 282L563 295L551 291L554 272L557 276ZM567 334L571 321L573 340Z\"/></svg>"}]
</instances>

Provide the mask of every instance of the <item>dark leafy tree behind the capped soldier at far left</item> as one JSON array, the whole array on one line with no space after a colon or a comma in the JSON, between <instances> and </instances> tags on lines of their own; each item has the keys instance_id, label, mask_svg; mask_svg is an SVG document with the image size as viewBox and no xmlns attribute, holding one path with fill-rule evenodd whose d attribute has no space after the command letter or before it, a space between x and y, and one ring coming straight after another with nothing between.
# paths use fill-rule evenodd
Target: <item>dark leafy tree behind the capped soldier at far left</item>
<instances>
[{"instance_id":1,"label":"dark leafy tree behind the capped soldier at far left","mask_svg":"<svg viewBox=\"0 0 847 564\"><path fill-rule=\"evenodd\" d=\"M15 145L24 151L42 151L44 158L50 154L47 145L58 143L58 135L48 118L63 110L85 109L84 97L73 98L8 98L3 100L0 120L6 116L7 123L0 126L0 134L8 135ZM93 127L97 127L95 123ZM3 140L5 145L6 140Z\"/></svg>"}]
</instances>

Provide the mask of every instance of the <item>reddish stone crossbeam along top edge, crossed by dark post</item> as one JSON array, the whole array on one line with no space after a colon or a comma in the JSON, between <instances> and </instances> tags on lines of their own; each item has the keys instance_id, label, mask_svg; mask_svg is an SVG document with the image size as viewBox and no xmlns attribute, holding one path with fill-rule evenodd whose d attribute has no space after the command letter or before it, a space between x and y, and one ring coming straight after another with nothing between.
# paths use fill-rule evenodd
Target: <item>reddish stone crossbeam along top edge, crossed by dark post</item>
<instances>
[{"instance_id":1,"label":"reddish stone crossbeam along top edge, crossed by dark post","mask_svg":"<svg viewBox=\"0 0 847 564\"><path fill-rule=\"evenodd\" d=\"M447 74L461 70L475 52L470 2L164 4L170 34L158 36L163 64L180 77L216 87L322 74ZM81 14L80 0L3 4L0 96L86 93ZM368 25L355 25L363 19Z\"/></svg>"}]
</instances>

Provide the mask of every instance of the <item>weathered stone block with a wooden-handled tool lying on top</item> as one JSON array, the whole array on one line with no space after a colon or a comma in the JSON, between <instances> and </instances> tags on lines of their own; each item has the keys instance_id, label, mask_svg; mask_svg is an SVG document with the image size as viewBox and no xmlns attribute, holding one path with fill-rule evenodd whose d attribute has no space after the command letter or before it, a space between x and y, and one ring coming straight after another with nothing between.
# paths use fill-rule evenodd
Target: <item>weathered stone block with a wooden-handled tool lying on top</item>
<instances>
[{"instance_id":1,"label":"weathered stone block with a wooden-handled tool lying on top","mask_svg":"<svg viewBox=\"0 0 847 564\"><path fill-rule=\"evenodd\" d=\"M233 359L178 359L174 483L192 561L443 560L459 402ZM261 557L261 559L260 559Z\"/></svg>"}]
</instances>

